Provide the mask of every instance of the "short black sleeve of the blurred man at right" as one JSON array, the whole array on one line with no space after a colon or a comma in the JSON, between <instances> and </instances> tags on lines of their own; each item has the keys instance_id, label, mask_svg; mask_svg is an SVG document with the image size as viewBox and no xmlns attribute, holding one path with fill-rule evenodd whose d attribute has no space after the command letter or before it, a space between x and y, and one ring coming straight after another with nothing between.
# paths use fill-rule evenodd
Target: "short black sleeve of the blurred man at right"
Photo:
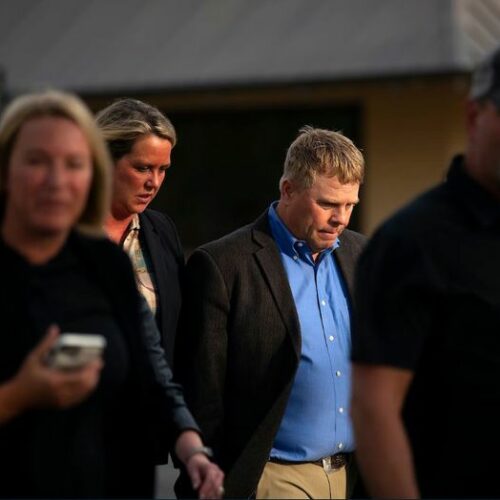
<instances>
[{"instance_id":1,"label":"short black sleeve of the blurred man at right","mask_svg":"<svg viewBox=\"0 0 500 500\"><path fill-rule=\"evenodd\" d=\"M360 257L352 360L414 370L431 330L435 301L425 242L383 227Z\"/></svg>"}]
</instances>

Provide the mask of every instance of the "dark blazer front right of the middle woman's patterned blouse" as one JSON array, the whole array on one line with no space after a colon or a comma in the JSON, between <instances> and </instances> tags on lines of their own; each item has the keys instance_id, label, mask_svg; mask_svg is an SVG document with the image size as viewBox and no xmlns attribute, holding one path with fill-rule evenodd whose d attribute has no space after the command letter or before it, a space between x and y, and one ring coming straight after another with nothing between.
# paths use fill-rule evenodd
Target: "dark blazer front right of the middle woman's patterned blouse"
<instances>
[{"instance_id":1,"label":"dark blazer front right of the middle woman's patterned blouse","mask_svg":"<svg viewBox=\"0 0 500 500\"><path fill-rule=\"evenodd\" d=\"M139 214L139 223L141 248L149 253L156 279L158 300L155 319L168 363L173 366L184 254L177 229L170 217L148 209Z\"/></svg>"}]
</instances>

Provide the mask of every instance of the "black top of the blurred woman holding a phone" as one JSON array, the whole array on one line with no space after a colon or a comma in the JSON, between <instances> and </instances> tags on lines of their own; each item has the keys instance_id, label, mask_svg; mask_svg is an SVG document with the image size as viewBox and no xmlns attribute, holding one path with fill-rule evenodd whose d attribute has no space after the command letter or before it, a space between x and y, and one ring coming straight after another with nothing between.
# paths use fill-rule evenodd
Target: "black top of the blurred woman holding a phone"
<instances>
[{"instance_id":1,"label":"black top of the blurred woman holding a phone","mask_svg":"<svg viewBox=\"0 0 500 500\"><path fill-rule=\"evenodd\" d=\"M0 426L0 496L152 496L159 454L195 424L178 387L159 383L147 357L127 255L104 238L76 233L61 255L67 257L57 265L38 268L0 241L0 383L17 372L49 324L84 324L98 300L113 320L113 330L101 323L99 332L109 347L103 375L74 408L33 409ZM63 282L62 289L52 286Z\"/></svg>"}]
</instances>

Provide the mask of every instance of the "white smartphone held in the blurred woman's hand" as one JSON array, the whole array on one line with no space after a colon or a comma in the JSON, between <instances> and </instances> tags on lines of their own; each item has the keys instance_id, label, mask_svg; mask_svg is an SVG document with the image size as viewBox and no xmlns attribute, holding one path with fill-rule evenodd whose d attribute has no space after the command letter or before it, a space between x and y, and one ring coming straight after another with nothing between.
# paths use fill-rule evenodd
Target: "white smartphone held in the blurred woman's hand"
<instances>
[{"instance_id":1,"label":"white smartphone held in the blurred woman's hand","mask_svg":"<svg viewBox=\"0 0 500 500\"><path fill-rule=\"evenodd\" d=\"M62 333L46 359L48 366L59 370L81 368L102 356L106 339L89 333Z\"/></svg>"}]
</instances>

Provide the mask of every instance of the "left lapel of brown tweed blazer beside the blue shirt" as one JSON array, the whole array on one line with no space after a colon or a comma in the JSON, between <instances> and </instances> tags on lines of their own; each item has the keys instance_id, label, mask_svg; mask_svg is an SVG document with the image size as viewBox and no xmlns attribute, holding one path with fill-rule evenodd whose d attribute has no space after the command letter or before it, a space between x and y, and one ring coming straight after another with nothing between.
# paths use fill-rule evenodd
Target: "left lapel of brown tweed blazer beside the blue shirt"
<instances>
[{"instance_id":1,"label":"left lapel of brown tweed blazer beside the blue shirt","mask_svg":"<svg viewBox=\"0 0 500 500\"><path fill-rule=\"evenodd\" d=\"M252 237L260 247L255 252L255 258L260 266L264 280L271 290L281 319L290 334L297 359L300 359L300 323L288 277L267 222L267 212L255 222Z\"/></svg>"}]
</instances>

